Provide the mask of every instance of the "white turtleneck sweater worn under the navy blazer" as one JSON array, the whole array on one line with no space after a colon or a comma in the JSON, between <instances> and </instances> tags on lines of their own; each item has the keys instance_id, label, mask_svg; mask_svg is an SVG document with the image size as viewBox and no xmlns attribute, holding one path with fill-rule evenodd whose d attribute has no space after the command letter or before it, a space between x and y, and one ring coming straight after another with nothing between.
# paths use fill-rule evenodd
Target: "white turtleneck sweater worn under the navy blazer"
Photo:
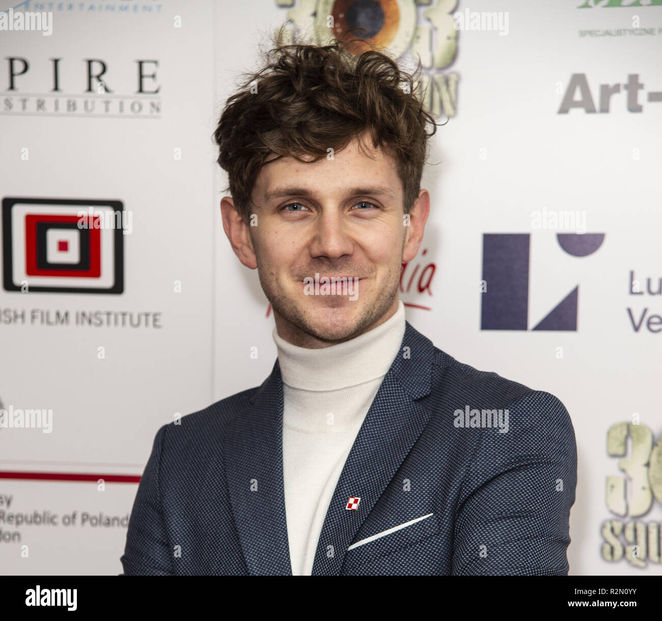
<instances>
[{"instance_id":1,"label":"white turtleneck sweater worn under the navy blazer","mask_svg":"<svg viewBox=\"0 0 662 621\"><path fill-rule=\"evenodd\" d=\"M283 379L283 480L293 575L312 573L329 502L363 418L399 352L404 319L401 301L383 324L321 349L295 346L273 328Z\"/></svg>"}]
</instances>

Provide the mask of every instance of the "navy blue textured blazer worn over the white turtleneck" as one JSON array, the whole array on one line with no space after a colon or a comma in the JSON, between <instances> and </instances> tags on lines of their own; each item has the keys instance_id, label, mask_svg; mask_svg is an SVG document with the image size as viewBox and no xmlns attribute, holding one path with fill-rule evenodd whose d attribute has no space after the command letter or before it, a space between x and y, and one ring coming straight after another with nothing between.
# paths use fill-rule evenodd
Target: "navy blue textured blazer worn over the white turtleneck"
<instances>
[{"instance_id":1,"label":"navy blue textured blazer worn over the white turtleneck","mask_svg":"<svg viewBox=\"0 0 662 621\"><path fill-rule=\"evenodd\" d=\"M291 575L278 361L260 387L179 422L156 434L124 575ZM407 322L312 575L565 575L576 482L559 399L457 362Z\"/></svg>"}]
</instances>

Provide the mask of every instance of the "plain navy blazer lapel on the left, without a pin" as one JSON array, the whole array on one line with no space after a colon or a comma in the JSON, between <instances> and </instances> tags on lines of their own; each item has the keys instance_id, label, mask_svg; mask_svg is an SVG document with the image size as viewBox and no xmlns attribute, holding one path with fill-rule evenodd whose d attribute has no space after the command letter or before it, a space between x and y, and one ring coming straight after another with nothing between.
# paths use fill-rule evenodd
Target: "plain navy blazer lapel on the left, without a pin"
<instances>
[{"instance_id":1,"label":"plain navy blazer lapel on the left, without a pin","mask_svg":"<svg viewBox=\"0 0 662 621\"><path fill-rule=\"evenodd\" d=\"M248 572L292 575L283 488L283 383L278 360L251 405L228 424L224 455Z\"/></svg>"}]
</instances>

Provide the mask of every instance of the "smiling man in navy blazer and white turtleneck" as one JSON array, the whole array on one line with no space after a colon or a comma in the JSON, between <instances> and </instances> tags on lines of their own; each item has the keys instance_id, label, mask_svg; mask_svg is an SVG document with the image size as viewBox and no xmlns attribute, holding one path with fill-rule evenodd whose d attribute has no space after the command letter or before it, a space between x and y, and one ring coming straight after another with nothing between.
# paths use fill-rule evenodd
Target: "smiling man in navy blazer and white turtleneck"
<instances>
[{"instance_id":1,"label":"smiling man in navy blazer and white turtleneck","mask_svg":"<svg viewBox=\"0 0 662 621\"><path fill-rule=\"evenodd\" d=\"M565 407L404 318L436 129L414 86L378 52L291 45L228 99L223 227L258 269L278 359L160 428L126 575L567 574Z\"/></svg>"}]
</instances>

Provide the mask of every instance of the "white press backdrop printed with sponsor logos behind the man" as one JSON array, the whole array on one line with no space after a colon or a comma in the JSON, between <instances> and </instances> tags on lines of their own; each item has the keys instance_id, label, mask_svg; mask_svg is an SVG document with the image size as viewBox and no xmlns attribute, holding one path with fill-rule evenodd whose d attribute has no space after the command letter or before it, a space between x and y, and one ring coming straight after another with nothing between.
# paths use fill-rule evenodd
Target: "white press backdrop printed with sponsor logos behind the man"
<instances>
[{"instance_id":1,"label":"white press backdrop printed with sponsor logos behind the man","mask_svg":"<svg viewBox=\"0 0 662 621\"><path fill-rule=\"evenodd\" d=\"M226 178L211 134L258 44L285 21L310 29L333 4L28 3L52 11L52 35L0 31L2 198L113 200L132 213L120 295L0 290L0 400L53 412L49 434L0 429L0 573L119 573L122 518L158 427L271 370L273 318L257 273L222 231ZM662 458L658 450L649 464L639 432L649 429L652 442L662 434L662 295L646 290L662 277L662 5L395 4L401 62L418 52L449 93L432 89L440 121L449 118L424 173L432 208L422 251L402 277L407 318L459 361L549 391L569 410L579 454L571 573L659 575ZM492 24L471 21L493 11ZM24 59L25 72L8 58ZM88 60L95 74L105 64L101 92L96 79L86 92ZM21 73L13 89L12 70ZM628 93L629 75L641 87ZM564 99L573 107L559 113ZM571 256L551 220L537 226L536 213L563 211L604 234L595 252ZM0 226L6 245L17 234ZM530 236L528 329L481 326L484 234ZM575 287L577 329L532 330ZM57 323L58 311L68 322ZM77 311L103 311L103 324L77 325ZM159 327L107 325L107 311L158 313ZM643 439L628 440L623 455L612 443L609 454L608 430L633 421ZM632 455L629 467L619 462ZM34 512L57 525L10 521ZM105 526L106 517L117 520Z\"/></svg>"}]
</instances>

